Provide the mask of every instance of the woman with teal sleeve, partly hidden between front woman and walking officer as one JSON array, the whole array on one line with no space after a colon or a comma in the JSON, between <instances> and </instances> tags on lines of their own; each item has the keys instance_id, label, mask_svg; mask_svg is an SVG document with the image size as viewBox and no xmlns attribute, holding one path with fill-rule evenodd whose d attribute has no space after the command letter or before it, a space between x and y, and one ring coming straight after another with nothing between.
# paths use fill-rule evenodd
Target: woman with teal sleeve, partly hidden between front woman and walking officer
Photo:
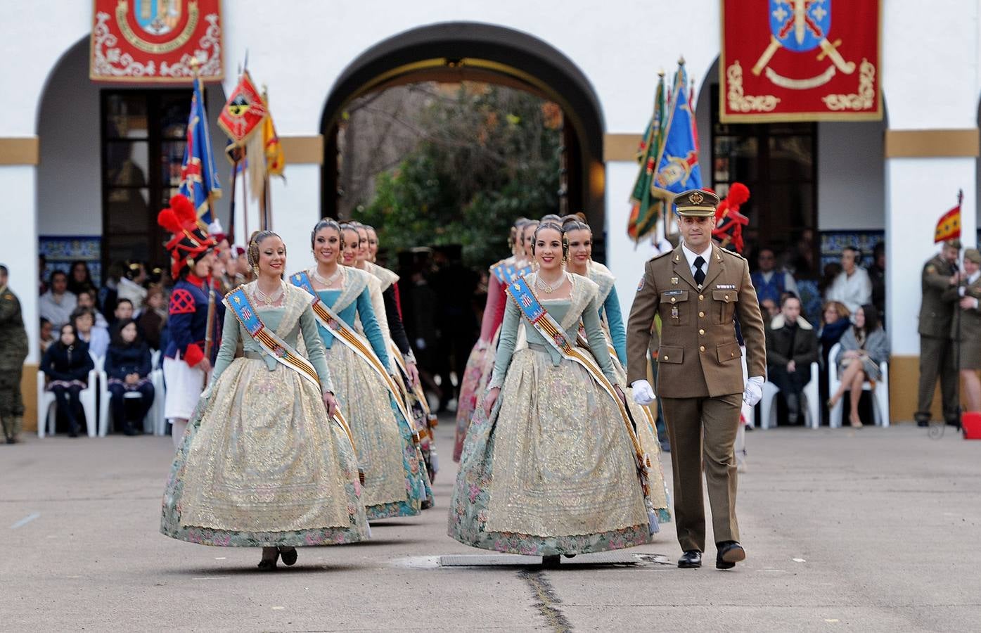
<instances>
[{"instance_id":1,"label":"woman with teal sleeve, partly hidden between front woman and walking officer","mask_svg":"<svg viewBox=\"0 0 981 633\"><path fill-rule=\"evenodd\" d=\"M618 384L627 385L627 332L620 312L620 300L614 288L616 278L608 268L593 261L593 230L590 225L577 216L566 216L563 218L562 231L569 244L566 270L588 277L599 287L599 323L605 337L604 343L610 351ZM664 483L664 469L660 462L661 446L657 442L654 417L647 407L637 404L633 398L627 398L627 406L637 423L637 436L641 446L650 459L650 498L657 510L657 519L661 522L670 521L671 510Z\"/></svg>"}]
</instances>

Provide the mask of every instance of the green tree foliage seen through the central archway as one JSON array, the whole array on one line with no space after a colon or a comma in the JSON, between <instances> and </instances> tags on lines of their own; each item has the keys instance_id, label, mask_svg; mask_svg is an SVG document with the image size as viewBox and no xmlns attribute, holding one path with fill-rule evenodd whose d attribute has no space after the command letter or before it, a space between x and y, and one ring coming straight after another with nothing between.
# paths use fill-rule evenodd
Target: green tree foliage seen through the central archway
<instances>
[{"instance_id":1,"label":"green tree foliage seen through the central archway","mask_svg":"<svg viewBox=\"0 0 981 633\"><path fill-rule=\"evenodd\" d=\"M355 217L390 252L458 243L464 263L507 254L515 218L558 209L561 132L546 126L542 99L500 86L464 84L435 98L411 122L420 140L379 174Z\"/></svg>"}]
</instances>

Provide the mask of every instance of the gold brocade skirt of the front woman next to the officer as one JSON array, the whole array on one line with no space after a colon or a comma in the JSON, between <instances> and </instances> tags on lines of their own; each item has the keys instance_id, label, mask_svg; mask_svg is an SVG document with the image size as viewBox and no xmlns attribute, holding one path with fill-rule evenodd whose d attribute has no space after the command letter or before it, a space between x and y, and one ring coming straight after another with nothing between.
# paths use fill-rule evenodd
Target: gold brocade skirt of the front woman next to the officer
<instances>
[{"instance_id":1,"label":"gold brocade skirt of the front woman next to the officer","mask_svg":"<svg viewBox=\"0 0 981 633\"><path fill-rule=\"evenodd\" d=\"M467 433L448 534L512 554L588 554L649 543L633 444L616 403L580 365L514 353L488 418Z\"/></svg>"}]
</instances>

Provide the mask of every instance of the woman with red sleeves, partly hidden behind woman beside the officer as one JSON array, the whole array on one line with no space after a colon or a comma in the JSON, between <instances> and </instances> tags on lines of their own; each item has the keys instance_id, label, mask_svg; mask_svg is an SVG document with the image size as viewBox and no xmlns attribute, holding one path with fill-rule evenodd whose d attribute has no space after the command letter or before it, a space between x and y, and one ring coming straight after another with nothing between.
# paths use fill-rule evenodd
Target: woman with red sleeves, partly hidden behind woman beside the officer
<instances>
[{"instance_id":1,"label":"woman with red sleeves, partly hidden behind woman beside the officer","mask_svg":"<svg viewBox=\"0 0 981 633\"><path fill-rule=\"evenodd\" d=\"M504 304L501 300L503 298L501 291L503 290L503 286L510 281L510 274L516 269L515 264L519 259L524 258L525 248L520 239L520 232L526 224L528 224L527 218L518 218L515 220L507 237L507 244L511 248L511 255L490 266L488 298L484 305L484 315L481 318L481 334L477 339L477 343L474 343L473 349L470 350L470 355L467 357L467 365L463 370L463 377L460 381L460 395L456 400L456 442L453 447L453 461L460 460L460 453L463 451L463 440L467 435L467 427L470 426L470 419L474 416L474 409L477 408L477 399L479 396L477 387L483 376L487 356L488 354L493 354L490 343L493 341L494 335L497 334L500 322L504 318Z\"/></svg>"}]
</instances>

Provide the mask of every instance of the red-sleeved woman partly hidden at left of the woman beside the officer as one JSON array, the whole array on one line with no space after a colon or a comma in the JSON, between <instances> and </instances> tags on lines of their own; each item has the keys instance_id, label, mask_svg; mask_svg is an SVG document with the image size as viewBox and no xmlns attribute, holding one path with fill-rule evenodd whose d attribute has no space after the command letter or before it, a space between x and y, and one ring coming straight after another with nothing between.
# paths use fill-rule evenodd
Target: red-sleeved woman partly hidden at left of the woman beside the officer
<instances>
[{"instance_id":1,"label":"red-sleeved woman partly hidden at left of the woman beside the officer","mask_svg":"<svg viewBox=\"0 0 981 633\"><path fill-rule=\"evenodd\" d=\"M474 412L478 407L480 397L487 391L490 383L490 374L493 371L494 352L497 349L498 338L500 337L500 326L504 321L504 306L507 305L507 284L513 279L530 273L532 268L532 236L538 228L537 220L519 218L514 223L514 259L508 263L508 259L498 262L490 268L490 283L488 284L488 300L484 308L484 317L481 321L481 340L485 337L489 342L483 351L471 352L471 359L467 360L467 370L464 372L464 389L468 394L472 389L472 397L464 398L463 390L460 391L458 402L463 403L463 412L457 411L456 414L456 440L453 445L453 461L459 461L463 453L463 443L467 438L467 429L470 428L470 421L474 417ZM477 342L480 344L480 341ZM476 349L476 346L475 346ZM478 361L480 364L478 364ZM470 387L472 385L473 387ZM472 401L471 401L472 400ZM458 404L457 406L461 406ZM469 411L469 414L467 414Z\"/></svg>"}]
</instances>

